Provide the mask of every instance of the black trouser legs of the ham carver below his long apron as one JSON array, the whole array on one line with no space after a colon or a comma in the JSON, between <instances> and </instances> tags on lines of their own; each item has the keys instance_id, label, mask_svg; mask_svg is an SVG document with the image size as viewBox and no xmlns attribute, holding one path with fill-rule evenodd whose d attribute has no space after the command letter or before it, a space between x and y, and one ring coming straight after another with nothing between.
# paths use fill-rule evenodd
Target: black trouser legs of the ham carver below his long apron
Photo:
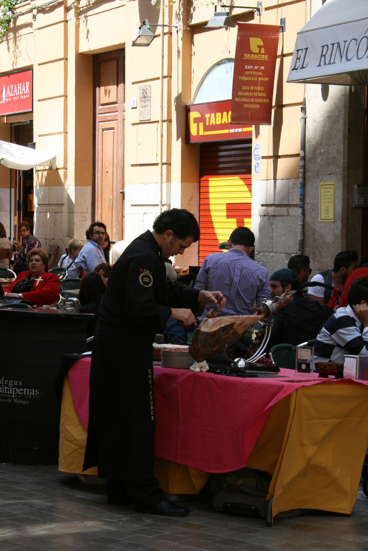
<instances>
[{"instance_id":1,"label":"black trouser legs of the ham carver below his long apron","mask_svg":"<svg viewBox=\"0 0 368 551\"><path fill-rule=\"evenodd\" d=\"M107 497L112 500L126 500L136 507L151 509L165 499L157 478L147 480L107 480Z\"/></svg>"}]
</instances>

